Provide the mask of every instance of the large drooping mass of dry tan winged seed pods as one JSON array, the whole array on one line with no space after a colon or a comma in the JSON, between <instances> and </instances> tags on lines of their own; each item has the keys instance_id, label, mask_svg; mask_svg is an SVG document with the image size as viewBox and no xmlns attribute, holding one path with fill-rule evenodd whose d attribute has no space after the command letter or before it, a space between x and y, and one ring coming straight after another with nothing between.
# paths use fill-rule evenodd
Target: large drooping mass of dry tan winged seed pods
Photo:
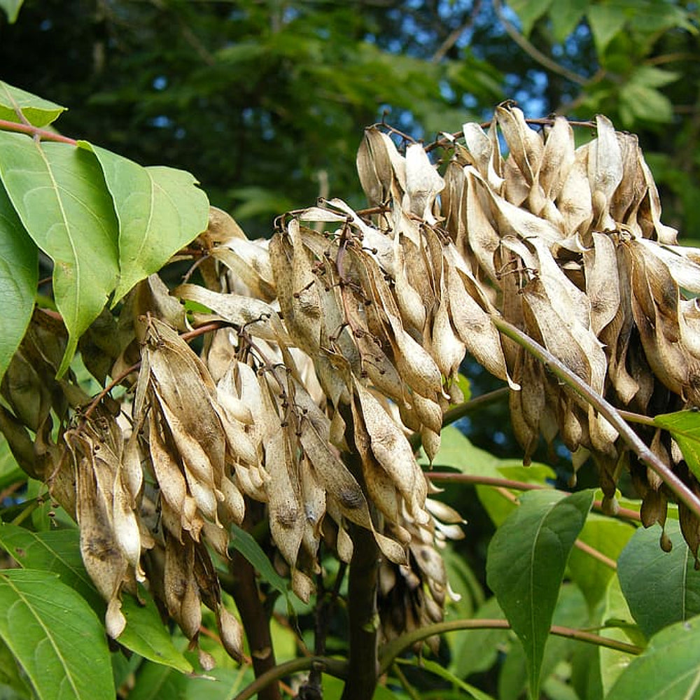
<instances>
[{"instance_id":1,"label":"large drooping mass of dry tan winged seed pods","mask_svg":"<svg viewBox=\"0 0 700 700\"><path fill-rule=\"evenodd\" d=\"M618 407L700 404L700 307L684 291L700 293L700 251L661 224L635 137L598 117L596 138L575 148L566 120L533 130L505 104L488 130L467 124L446 141L439 171L421 145L400 152L367 130L357 164L371 208L324 201L280 218L269 242L213 210L204 286L173 292L210 309L197 324L225 325L201 358L174 330L183 313L158 278L134 294L130 437L106 412L68 435L83 557L113 635L120 590L148 580L193 642L200 603L214 610L238 657L211 556L227 558L228 526L254 524L254 503L302 599L321 543L350 562L359 527L381 553L385 636L440 620L439 545L462 535L461 518L428 496L407 435L432 461L444 412L463 400L467 352L510 386L526 460L540 435L560 436L575 467L594 457L612 504L629 461L616 430L500 337L497 316ZM668 437L649 442L700 491ZM663 524L659 479L632 468L645 524ZM696 553L700 526L684 509L681 523Z\"/></svg>"}]
</instances>

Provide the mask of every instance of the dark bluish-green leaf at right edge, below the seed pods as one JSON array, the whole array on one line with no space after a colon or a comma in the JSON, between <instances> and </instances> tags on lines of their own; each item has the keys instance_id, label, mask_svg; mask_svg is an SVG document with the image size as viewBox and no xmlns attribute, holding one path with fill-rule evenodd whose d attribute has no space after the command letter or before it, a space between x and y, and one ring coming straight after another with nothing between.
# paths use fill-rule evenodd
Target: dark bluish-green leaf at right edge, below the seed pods
<instances>
[{"instance_id":1,"label":"dark bluish-green leaf at right edge, below the seed pods","mask_svg":"<svg viewBox=\"0 0 700 700\"><path fill-rule=\"evenodd\" d=\"M638 529L617 561L617 575L634 619L647 637L700 615L700 575L680 532L668 521L671 552L659 547L659 528Z\"/></svg>"}]
</instances>

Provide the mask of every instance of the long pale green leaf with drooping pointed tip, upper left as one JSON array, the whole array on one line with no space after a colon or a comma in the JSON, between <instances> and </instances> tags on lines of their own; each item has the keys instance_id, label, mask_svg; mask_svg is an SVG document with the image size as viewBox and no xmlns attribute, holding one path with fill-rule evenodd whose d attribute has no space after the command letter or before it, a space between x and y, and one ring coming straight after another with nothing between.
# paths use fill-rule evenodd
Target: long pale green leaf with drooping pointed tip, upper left
<instances>
[{"instance_id":1,"label":"long pale green leaf with drooping pointed tip, upper left","mask_svg":"<svg viewBox=\"0 0 700 700\"><path fill-rule=\"evenodd\" d=\"M58 370L102 311L118 274L117 221L94 155L0 132L0 179L36 244L54 261L56 306L69 332Z\"/></svg>"}]
</instances>

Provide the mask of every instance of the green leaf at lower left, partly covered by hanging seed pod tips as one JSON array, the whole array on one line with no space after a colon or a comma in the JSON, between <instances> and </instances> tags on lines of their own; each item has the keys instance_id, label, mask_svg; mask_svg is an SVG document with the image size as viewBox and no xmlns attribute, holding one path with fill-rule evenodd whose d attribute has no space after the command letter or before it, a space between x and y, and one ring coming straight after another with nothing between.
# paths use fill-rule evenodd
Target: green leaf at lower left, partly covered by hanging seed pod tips
<instances>
[{"instance_id":1,"label":"green leaf at lower left, partly covered by hanging seed pod tips","mask_svg":"<svg viewBox=\"0 0 700 700\"><path fill-rule=\"evenodd\" d=\"M85 598L97 615L104 615L106 605L83 566L77 529L34 533L4 523L0 524L0 547L20 566L56 573L66 586ZM146 605L139 605L130 595L123 596L122 612L127 626L119 643L145 659L190 673L190 662L174 647L151 596L141 591L141 597Z\"/></svg>"}]
</instances>

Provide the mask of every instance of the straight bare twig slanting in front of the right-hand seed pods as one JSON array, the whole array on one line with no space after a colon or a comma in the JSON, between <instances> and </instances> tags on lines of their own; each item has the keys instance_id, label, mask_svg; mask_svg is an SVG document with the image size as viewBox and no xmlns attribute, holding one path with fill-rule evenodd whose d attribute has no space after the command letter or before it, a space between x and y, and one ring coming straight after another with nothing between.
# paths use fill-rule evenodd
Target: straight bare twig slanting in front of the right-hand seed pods
<instances>
[{"instance_id":1,"label":"straight bare twig slanting in front of the right-hand seed pods","mask_svg":"<svg viewBox=\"0 0 700 700\"><path fill-rule=\"evenodd\" d=\"M525 332L512 325L512 323L504 321L503 318L498 316L492 316L491 318L493 319L493 325L503 335L517 342L519 346L528 351L533 357L538 358L556 377L559 377L561 381L573 388L598 413L604 416L608 423L617 430L622 440L633 449L640 461L650 467L661 481L668 486L668 489L671 490L676 498L686 505L696 517L700 518L700 499L644 444L634 430L622 419L615 406L596 393L575 372L572 372L561 360L552 355L538 342L535 342Z\"/></svg>"}]
</instances>

